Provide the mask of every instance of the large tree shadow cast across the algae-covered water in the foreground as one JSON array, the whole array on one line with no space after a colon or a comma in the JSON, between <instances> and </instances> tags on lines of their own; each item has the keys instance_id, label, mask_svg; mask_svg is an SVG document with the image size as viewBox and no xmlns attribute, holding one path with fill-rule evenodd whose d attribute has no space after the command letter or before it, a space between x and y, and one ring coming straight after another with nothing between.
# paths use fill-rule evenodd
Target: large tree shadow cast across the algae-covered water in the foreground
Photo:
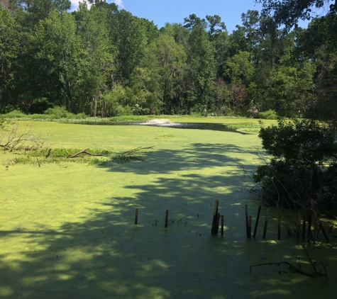
<instances>
[{"instance_id":1,"label":"large tree shadow cast across the algae-covered water in the foreground","mask_svg":"<svg viewBox=\"0 0 337 299\"><path fill-rule=\"evenodd\" d=\"M18 256L0 256L2 298L270 298L272 272L249 273L247 252L254 255L261 245L245 238L243 205L256 198L244 190L235 153L245 162L253 151L196 144L183 152L145 153L145 162L101 167L124 174L119 188L133 195L102 196L84 208L81 221L57 230L0 232L1 243ZM125 174L137 176L131 183ZM210 234L216 198L224 237ZM280 278L274 298L288 297L291 285Z\"/></svg>"}]
</instances>

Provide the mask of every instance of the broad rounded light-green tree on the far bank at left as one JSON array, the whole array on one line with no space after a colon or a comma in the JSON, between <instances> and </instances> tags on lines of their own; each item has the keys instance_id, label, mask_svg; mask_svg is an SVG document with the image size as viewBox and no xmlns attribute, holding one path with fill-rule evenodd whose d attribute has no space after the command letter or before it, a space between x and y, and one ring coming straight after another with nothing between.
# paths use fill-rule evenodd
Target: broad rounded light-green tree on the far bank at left
<instances>
[{"instance_id":1,"label":"broad rounded light-green tree on the far bank at left","mask_svg":"<svg viewBox=\"0 0 337 299\"><path fill-rule=\"evenodd\" d=\"M33 98L49 98L53 105L72 111L81 64L86 58L76 35L74 17L70 13L51 12L40 21L29 45L31 67L35 67L35 76L30 80Z\"/></svg>"}]
</instances>

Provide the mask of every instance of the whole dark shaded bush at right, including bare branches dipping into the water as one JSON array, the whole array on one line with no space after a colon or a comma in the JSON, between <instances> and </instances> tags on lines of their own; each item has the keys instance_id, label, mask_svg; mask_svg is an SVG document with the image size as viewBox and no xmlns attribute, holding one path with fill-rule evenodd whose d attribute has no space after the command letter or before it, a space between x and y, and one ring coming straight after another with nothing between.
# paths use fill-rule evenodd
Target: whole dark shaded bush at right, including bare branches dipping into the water
<instances>
[{"instance_id":1,"label":"whole dark shaded bush at right, including bare branches dipping into the water","mask_svg":"<svg viewBox=\"0 0 337 299\"><path fill-rule=\"evenodd\" d=\"M277 125L262 128L259 137L269 157L259 153L262 165L253 181L260 186L264 202L287 222L288 234L297 239L313 272L287 261L253 266L287 264L289 272L328 278L326 265L311 258L306 244L316 242L320 230L329 242L319 219L319 208L328 208L336 202L336 128L332 123L315 120L279 120Z\"/></svg>"}]
</instances>

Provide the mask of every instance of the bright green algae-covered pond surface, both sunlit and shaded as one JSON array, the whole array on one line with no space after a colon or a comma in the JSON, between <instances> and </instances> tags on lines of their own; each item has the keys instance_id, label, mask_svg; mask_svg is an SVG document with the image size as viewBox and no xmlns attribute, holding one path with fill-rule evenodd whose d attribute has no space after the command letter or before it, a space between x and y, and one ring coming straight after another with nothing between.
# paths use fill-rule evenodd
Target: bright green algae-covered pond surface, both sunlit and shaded
<instances>
[{"instance_id":1,"label":"bright green algae-covered pond surface, both sunlit and shaded","mask_svg":"<svg viewBox=\"0 0 337 299\"><path fill-rule=\"evenodd\" d=\"M24 123L22 123L24 124ZM0 298L334 298L336 228L309 246L326 278L249 266L288 261L311 271L304 253L263 208L255 239L245 204L258 198L242 171L259 163L257 135L143 126L33 123L48 146L116 153L153 147L145 161L11 165L0 154ZM214 201L224 236L211 235ZM134 224L138 208L138 225ZM169 225L165 228L165 210Z\"/></svg>"}]
</instances>

